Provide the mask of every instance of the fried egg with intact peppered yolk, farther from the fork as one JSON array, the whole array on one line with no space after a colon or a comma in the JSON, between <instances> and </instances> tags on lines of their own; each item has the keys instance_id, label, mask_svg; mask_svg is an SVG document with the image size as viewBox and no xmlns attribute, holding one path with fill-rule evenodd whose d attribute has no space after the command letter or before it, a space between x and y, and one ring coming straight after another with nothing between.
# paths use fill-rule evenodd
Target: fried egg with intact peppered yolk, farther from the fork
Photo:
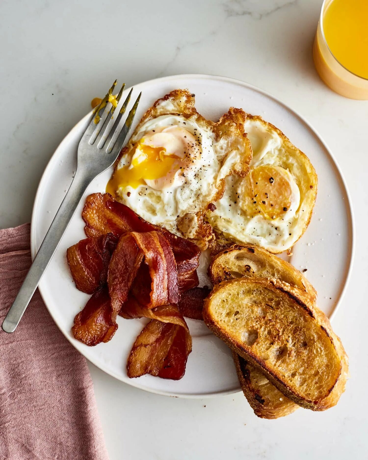
<instances>
[{"instance_id":1,"label":"fried egg with intact peppered yolk, farther from the fork","mask_svg":"<svg viewBox=\"0 0 368 460\"><path fill-rule=\"evenodd\" d=\"M226 178L224 195L207 220L226 240L282 253L310 222L316 172L304 153L261 117L246 115L244 130L253 149L250 171L244 178Z\"/></svg>"}]
</instances>

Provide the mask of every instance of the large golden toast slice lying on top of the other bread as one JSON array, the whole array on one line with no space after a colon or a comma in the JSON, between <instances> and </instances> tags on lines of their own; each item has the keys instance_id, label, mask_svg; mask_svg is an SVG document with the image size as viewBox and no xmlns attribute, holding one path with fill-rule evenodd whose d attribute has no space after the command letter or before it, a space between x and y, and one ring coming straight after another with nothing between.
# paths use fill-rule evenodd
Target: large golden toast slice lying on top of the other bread
<instances>
[{"instance_id":1,"label":"large golden toast slice lying on top of the other bread","mask_svg":"<svg viewBox=\"0 0 368 460\"><path fill-rule=\"evenodd\" d=\"M207 326L302 407L325 410L345 390L348 361L327 316L299 288L239 278L214 287Z\"/></svg>"}]
</instances>

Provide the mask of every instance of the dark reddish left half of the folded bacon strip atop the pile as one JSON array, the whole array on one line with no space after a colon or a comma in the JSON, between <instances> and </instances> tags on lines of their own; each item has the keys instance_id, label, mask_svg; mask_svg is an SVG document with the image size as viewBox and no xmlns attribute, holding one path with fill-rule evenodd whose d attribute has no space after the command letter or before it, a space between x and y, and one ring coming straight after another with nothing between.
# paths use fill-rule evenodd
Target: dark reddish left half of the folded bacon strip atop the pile
<instances>
[{"instance_id":1,"label":"dark reddish left half of the folded bacon strip atop the pile","mask_svg":"<svg viewBox=\"0 0 368 460\"><path fill-rule=\"evenodd\" d=\"M121 305L128 299L128 293L143 261L143 256L132 233L129 232L120 237L110 260L107 277L114 321Z\"/></svg>"}]
</instances>

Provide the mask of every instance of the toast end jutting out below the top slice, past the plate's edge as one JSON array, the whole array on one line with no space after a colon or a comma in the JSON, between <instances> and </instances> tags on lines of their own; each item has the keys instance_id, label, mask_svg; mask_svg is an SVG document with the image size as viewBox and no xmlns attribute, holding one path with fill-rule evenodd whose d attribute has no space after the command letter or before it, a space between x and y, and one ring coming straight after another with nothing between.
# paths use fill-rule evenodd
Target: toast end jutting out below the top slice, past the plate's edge
<instances>
[{"instance_id":1,"label":"toast end jutting out below the top slice, past the plate's edge","mask_svg":"<svg viewBox=\"0 0 368 460\"><path fill-rule=\"evenodd\" d=\"M233 351L236 372L244 396L261 419L278 419L292 414L299 406L272 385L258 368Z\"/></svg>"}]
</instances>

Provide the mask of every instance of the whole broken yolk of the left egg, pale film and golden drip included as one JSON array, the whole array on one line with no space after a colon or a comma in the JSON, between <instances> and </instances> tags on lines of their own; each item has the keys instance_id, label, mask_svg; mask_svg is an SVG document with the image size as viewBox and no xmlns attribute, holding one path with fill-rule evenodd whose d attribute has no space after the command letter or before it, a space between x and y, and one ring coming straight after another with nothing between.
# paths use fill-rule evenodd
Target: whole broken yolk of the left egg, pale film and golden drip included
<instances>
[{"instance_id":1,"label":"whole broken yolk of the left egg, pale film and golden drip included","mask_svg":"<svg viewBox=\"0 0 368 460\"><path fill-rule=\"evenodd\" d=\"M200 150L186 129L171 126L148 132L136 144L130 165L117 169L107 184L112 196L127 186L149 185L156 190L183 183L184 171Z\"/></svg>"}]
</instances>

